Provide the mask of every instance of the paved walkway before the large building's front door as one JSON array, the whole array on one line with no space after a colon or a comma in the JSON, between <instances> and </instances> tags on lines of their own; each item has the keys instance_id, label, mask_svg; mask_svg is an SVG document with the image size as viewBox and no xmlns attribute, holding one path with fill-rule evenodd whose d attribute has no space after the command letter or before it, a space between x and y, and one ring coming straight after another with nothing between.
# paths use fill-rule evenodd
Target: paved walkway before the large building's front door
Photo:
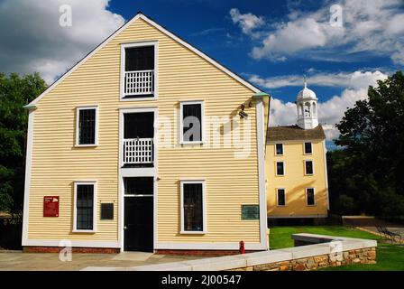
<instances>
[{"instance_id":1,"label":"paved walkway before the large building's front door","mask_svg":"<svg viewBox=\"0 0 404 289\"><path fill-rule=\"evenodd\" d=\"M194 260L197 256L165 256L142 252L120 254L73 253L71 262L60 261L56 253L23 253L0 251L0 271L63 271L80 270L87 266L129 267Z\"/></svg>"}]
</instances>

